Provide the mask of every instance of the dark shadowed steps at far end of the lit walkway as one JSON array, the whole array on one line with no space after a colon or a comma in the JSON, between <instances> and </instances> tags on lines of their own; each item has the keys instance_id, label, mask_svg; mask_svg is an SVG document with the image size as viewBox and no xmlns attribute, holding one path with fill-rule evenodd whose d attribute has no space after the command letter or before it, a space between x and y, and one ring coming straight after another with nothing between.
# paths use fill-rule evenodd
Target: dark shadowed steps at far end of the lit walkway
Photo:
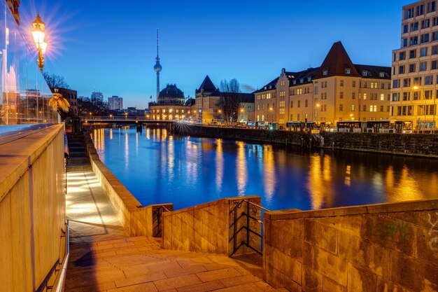
<instances>
[{"instance_id":1,"label":"dark shadowed steps at far end of the lit walkway","mask_svg":"<svg viewBox=\"0 0 438 292\"><path fill-rule=\"evenodd\" d=\"M67 172L91 169L90 158L87 154L83 134L67 134L70 158Z\"/></svg>"}]
</instances>

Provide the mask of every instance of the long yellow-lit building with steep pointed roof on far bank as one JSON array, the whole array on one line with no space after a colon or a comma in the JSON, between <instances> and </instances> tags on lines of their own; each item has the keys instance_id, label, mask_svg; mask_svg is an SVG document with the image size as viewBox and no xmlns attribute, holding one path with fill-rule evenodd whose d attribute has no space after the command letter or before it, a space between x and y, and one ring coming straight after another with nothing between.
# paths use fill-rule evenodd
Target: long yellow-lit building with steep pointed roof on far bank
<instances>
[{"instance_id":1,"label":"long yellow-lit building with steep pointed roof on far bank","mask_svg":"<svg viewBox=\"0 0 438 292\"><path fill-rule=\"evenodd\" d=\"M335 126L346 120L388 120L390 67L351 62L341 42L334 43L318 68L281 70L255 92L255 119L285 126L316 122Z\"/></svg>"}]
</instances>

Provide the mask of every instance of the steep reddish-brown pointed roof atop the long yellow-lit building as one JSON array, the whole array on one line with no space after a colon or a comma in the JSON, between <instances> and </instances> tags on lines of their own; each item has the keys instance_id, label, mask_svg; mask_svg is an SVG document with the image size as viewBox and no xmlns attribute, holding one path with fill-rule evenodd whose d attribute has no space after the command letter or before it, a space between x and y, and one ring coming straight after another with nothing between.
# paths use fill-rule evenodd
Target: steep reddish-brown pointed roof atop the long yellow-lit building
<instances>
[{"instance_id":1,"label":"steep reddish-brown pointed roof atop the long yellow-lit building","mask_svg":"<svg viewBox=\"0 0 438 292\"><path fill-rule=\"evenodd\" d=\"M346 74L347 69L350 74ZM330 76L360 76L340 41L333 44L323 64L316 72L315 79Z\"/></svg>"}]
</instances>

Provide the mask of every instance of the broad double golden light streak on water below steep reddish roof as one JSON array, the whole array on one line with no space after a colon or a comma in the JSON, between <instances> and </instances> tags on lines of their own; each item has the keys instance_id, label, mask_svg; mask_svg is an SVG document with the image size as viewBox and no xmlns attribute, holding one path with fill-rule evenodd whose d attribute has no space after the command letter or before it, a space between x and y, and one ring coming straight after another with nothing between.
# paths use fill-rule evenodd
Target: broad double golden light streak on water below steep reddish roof
<instances>
[{"instance_id":1,"label":"broad double golden light streak on water below steep reddish roof","mask_svg":"<svg viewBox=\"0 0 438 292\"><path fill-rule=\"evenodd\" d=\"M309 181L307 188L310 194L311 209L321 209L324 204L332 205L332 165L329 155L311 155L309 165Z\"/></svg>"}]
</instances>

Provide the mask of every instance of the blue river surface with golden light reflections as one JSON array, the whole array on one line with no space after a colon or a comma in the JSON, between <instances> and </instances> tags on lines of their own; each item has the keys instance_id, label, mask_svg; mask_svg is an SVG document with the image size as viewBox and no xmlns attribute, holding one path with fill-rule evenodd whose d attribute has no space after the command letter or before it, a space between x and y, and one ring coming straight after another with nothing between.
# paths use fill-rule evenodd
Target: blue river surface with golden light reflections
<instances>
[{"instance_id":1,"label":"blue river surface with golden light reflections","mask_svg":"<svg viewBox=\"0 0 438 292\"><path fill-rule=\"evenodd\" d=\"M173 202L180 209L260 195L269 209L320 209L438 197L437 160L286 151L163 129L146 135L95 130L92 136L101 159L143 205Z\"/></svg>"}]
</instances>

